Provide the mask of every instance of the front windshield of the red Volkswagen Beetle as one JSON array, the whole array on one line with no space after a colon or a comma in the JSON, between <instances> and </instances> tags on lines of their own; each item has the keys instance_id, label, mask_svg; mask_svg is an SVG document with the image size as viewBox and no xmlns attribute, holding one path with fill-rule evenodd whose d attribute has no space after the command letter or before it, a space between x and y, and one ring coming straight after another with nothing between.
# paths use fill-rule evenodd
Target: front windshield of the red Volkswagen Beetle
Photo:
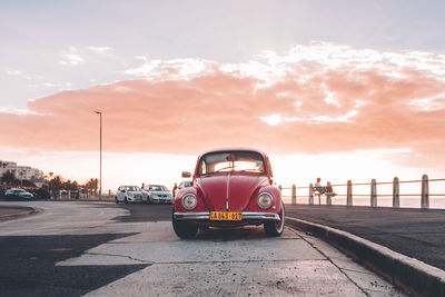
<instances>
[{"instance_id":1,"label":"front windshield of the red Volkswagen Beetle","mask_svg":"<svg viewBox=\"0 0 445 297\"><path fill-rule=\"evenodd\" d=\"M225 171L265 172L263 157L254 151L225 151L207 154L199 161L199 175Z\"/></svg>"}]
</instances>

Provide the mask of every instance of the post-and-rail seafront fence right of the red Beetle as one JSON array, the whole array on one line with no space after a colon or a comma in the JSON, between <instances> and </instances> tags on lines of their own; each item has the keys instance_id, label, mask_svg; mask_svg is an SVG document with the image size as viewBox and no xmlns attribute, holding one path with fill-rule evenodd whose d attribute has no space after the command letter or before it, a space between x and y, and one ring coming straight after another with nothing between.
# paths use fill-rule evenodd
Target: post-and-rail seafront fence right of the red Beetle
<instances>
[{"instance_id":1,"label":"post-and-rail seafront fence right of the red Beetle","mask_svg":"<svg viewBox=\"0 0 445 297\"><path fill-rule=\"evenodd\" d=\"M326 197L326 205L332 205L333 197L342 197L346 198L346 205L353 206L354 205L354 197L369 197L369 206L377 207L377 198L393 198L393 207L400 207L400 197L419 197L419 207L427 209L429 208L429 197L445 197L445 194L429 194L429 182L439 182L445 181L444 178L435 178L428 179L427 175L424 175L419 180L398 180L397 177L393 179L393 181L382 181L377 182L376 179L372 179L370 182L357 182L353 184L352 180L348 180L347 184L337 184L332 185L333 188L338 187L346 187L346 195L337 195L333 192L320 194L314 189L314 185L309 184L308 187L297 187L295 184L291 187L281 187L278 186L281 192L286 190L290 190L290 195L283 195L284 198L290 198L291 204L297 204L298 198L308 199L307 202L309 205L314 205L314 197L318 196L318 204L322 204L322 195ZM400 194L400 184L421 184L421 192L419 194ZM393 192L392 194L377 194L377 186L380 185L393 185ZM353 194L354 186L368 186L369 194ZM298 190L308 189L308 195L297 196ZM445 208L445 207L443 207Z\"/></svg>"}]
</instances>

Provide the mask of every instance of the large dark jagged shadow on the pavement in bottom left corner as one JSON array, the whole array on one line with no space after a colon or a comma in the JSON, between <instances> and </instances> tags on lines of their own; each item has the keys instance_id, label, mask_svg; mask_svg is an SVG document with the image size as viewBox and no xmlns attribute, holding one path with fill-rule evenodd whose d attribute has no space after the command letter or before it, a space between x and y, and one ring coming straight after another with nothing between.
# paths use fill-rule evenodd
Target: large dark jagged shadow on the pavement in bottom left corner
<instances>
[{"instance_id":1,"label":"large dark jagged shadow on the pavement in bottom left corner","mask_svg":"<svg viewBox=\"0 0 445 297\"><path fill-rule=\"evenodd\" d=\"M0 236L0 295L81 296L148 265L56 266L135 234Z\"/></svg>"}]
</instances>

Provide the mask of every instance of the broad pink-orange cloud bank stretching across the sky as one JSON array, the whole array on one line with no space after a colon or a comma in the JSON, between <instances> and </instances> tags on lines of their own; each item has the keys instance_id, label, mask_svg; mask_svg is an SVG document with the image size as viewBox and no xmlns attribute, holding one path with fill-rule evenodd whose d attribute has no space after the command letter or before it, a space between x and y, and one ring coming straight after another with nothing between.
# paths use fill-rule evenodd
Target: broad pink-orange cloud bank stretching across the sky
<instances>
[{"instance_id":1,"label":"broad pink-orange cloud bank stretching across the sky","mask_svg":"<svg viewBox=\"0 0 445 297\"><path fill-rule=\"evenodd\" d=\"M206 62L188 79L177 77L176 62L149 79L63 91L30 101L28 113L1 112L0 137L10 147L96 150L92 111L101 110L107 151L271 145L283 154L412 148L436 156L445 147L445 80L436 66L288 60L266 63L259 76L246 65ZM273 115L277 125L264 121Z\"/></svg>"}]
</instances>

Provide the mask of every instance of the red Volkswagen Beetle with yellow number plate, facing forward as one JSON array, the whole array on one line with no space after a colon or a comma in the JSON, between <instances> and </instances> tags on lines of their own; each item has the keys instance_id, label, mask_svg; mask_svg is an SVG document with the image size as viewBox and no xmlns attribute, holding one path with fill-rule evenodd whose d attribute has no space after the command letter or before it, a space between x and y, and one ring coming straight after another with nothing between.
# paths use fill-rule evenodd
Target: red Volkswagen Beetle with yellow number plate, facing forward
<instances>
[{"instance_id":1,"label":"red Volkswagen Beetle with yellow number plate, facing forward","mask_svg":"<svg viewBox=\"0 0 445 297\"><path fill-rule=\"evenodd\" d=\"M190 177L182 172L182 177ZM172 225L180 238L199 228L264 225L267 236L280 236L285 225L281 194L273 185L268 157L255 149L207 151L198 157L192 186L175 197Z\"/></svg>"}]
</instances>

